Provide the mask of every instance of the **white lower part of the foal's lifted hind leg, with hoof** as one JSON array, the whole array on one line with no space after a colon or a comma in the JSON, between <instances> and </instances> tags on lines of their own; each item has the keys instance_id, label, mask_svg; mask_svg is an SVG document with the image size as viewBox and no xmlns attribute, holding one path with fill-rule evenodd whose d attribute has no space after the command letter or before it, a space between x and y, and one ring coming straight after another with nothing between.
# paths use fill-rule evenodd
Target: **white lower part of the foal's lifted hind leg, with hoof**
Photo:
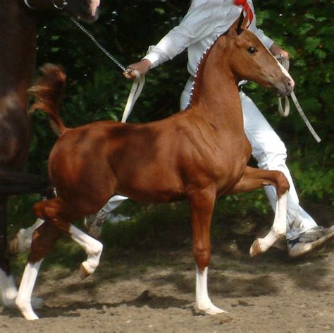
<instances>
[{"instance_id":1,"label":"white lower part of the foal's lifted hind leg, with hoof","mask_svg":"<svg viewBox=\"0 0 334 333\"><path fill-rule=\"evenodd\" d=\"M103 250L103 245L96 239L88 236L80 229L70 225L70 236L73 241L76 241L82 248L85 249L87 253L87 260L82 262L82 266L85 268L88 274L94 273L97 266L99 265L99 260Z\"/></svg>"}]
</instances>

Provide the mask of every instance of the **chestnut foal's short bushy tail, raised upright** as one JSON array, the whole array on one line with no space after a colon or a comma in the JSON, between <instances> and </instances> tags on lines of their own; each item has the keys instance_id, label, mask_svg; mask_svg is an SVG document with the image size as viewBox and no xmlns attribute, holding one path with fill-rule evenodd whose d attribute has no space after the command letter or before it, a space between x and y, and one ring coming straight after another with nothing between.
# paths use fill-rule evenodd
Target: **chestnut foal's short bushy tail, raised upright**
<instances>
[{"instance_id":1,"label":"chestnut foal's short bushy tail, raised upright","mask_svg":"<svg viewBox=\"0 0 334 333\"><path fill-rule=\"evenodd\" d=\"M35 103L30 107L30 112L39 109L49 114L52 130L56 135L61 136L70 130L64 126L59 117L59 106L64 95L66 74L61 66L51 63L46 63L40 69L42 76L28 90L28 93L35 97Z\"/></svg>"}]
</instances>

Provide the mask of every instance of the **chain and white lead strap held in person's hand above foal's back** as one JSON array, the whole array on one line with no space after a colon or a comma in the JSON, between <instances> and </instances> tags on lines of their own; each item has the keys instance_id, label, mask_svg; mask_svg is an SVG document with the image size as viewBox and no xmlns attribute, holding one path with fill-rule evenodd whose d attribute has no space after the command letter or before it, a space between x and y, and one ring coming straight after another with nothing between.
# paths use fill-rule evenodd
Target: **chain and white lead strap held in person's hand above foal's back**
<instances>
[{"instance_id":1,"label":"chain and white lead strap held in person's hand above foal's back","mask_svg":"<svg viewBox=\"0 0 334 333\"><path fill-rule=\"evenodd\" d=\"M123 111L122 116L122 123L125 123L126 119L128 119L128 116L130 115L132 108L135 105L135 102L137 101L138 97L140 97L140 93L142 92L142 89L144 87L145 83L145 76L140 75L140 73L137 70L133 70L130 68L126 68L123 66L113 55L111 55L97 40L94 38L94 36L86 29L84 28L75 18L71 17L70 20L80 29L82 32L85 32L85 34L94 42L94 44L104 53L106 56L113 61L113 63L116 64L123 72L130 74L131 71L133 71L136 75L136 78L133 80L132 87L130 90L130 94L128 96L128 101L126 102L125 109Z\"/></svg>"}]
</instances>

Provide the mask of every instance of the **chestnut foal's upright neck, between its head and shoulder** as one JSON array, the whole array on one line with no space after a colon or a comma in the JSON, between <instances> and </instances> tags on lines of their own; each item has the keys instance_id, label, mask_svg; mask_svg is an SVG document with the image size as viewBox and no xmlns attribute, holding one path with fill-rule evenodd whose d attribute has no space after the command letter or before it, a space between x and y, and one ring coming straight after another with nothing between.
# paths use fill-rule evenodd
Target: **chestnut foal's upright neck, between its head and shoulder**
<instances>
[{"instance_id":1,"label":"chestnut foal's upright neck, between its head and shoulder","mask_svg":"<svg viewBox=\"0 0 334 333\"><path fill-rule=\"evenodd\" d=\"M219 131L243 133L237 83L220 48L214 45L199 69L190 111L213 123Z\"/></svg>"}]
</instances>

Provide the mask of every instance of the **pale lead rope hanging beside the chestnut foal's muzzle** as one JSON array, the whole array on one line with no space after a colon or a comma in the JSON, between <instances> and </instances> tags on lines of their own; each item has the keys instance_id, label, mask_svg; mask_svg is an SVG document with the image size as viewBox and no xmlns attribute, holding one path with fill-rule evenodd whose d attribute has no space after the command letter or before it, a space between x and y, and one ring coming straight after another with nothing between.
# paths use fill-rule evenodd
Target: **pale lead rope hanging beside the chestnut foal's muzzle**
<instances>
[{"instance_id":1,"label":"pale lead rope hanging beside the chestnut foal's muzzle","mask_svg":"<svg viewBox=\"0 0 334 333\"><path fill-rule=\"evenodd\" d=\"M285 58L285 56L283 56L283 54L280 54L279 56L276 56L276 59L278 59L278 61L280 61L282 66L287 71L289 71L289 66L290 66L289 59ZM321 138L319 137L319 135L314 130L313 126L309 122L309 119L307 119L306 114L304 114L304 111L303 111L302 107L300 106L300 104L298 102L298 99L295 95L295 92L291 93L291 98L292 98L292 101L295 104L295 107L296 107L297 111L299 112L300 116L302 117L302 119L303 119L305 125L307 126L307 128L309 128L309 131L313 135L314 139L316 139L317 143L320 143ZM284 108L283 108L283 99L284 99ZM289 102L288 97L278 98L278 111L279 111L280 115L283 116L283 117L287 117L290 114L290 102Z\"/></svg>"}]
</instances>

